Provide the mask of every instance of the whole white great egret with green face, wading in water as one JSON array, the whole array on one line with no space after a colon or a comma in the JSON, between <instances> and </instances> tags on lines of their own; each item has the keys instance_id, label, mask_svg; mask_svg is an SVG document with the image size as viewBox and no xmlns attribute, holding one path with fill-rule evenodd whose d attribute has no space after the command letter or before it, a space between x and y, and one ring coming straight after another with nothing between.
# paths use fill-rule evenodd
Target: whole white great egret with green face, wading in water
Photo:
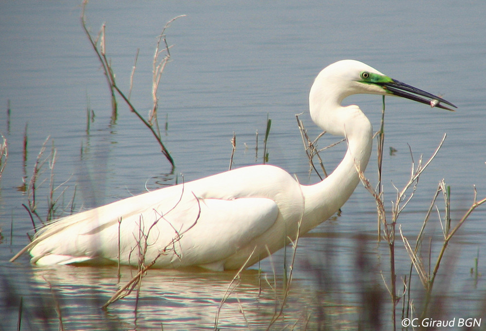
<instances>
[{"instance_id":1,"label":"whole white great egret with green face, wading in water","mask_svg":"<svg viewBox=\"0 0 486 331\"><path fill-rule=\"evenodd\" d=\"M373 132L358 106L341 102L358 93L455 107L359 61L336 62L317 75L309 95L312 120L347 138L344 159L322 182L301 185L277 166L246 166L61 218L17 256L29 250L40 265L137 265L140 256L158 268L252 265L294 240L299 223L302 234L328 219L356 188Z\"/></svg>"}]
</instances>

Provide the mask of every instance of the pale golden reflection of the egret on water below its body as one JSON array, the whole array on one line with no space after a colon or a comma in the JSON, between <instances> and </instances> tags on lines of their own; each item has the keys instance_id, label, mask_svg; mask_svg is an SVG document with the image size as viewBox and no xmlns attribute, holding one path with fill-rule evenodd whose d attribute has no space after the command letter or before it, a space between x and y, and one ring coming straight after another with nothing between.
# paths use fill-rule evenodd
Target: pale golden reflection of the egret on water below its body
<instances>
[{"instance_id":1,"label":"pale golden reflection of the egret on water below its body","mask_svg":"<svg viewBox=\"0 0 486 331\"><path fill-rule=\"evenodd\" d=\"M100 307L120 284L131 279L133 271L122 268L118 282L116 268L35 267L32 297L40 295L44 297L41 301L44 304L58 305L66 330L100 326L128 330L162 327L164 330L211 330L216 316L217 327L222 330L264 330L282 304L282 280L274 279L273 275L260 275L257 270L241 273L236 288L230 286L234 272L150 270L142 279L138 299L136 289L130 296L109 306L107 311L102 311ZM52 299L46 299L50 294ZM305 329L305 325L317 325L315 316L312 316L312 301L317 299L314 296L315 293L297 284L286 300L284 318L273 328L281 330L295 326ZM223 298L226 300L221 305ZM333 320L339 321L337 323L343 328L348 318L356 315L355 307L331 302L320 304L325 304L328 317L332 313ZM69 314L80 310L84 313ZM38 319L28 318L29 323L33 326L46 323L51 327L59 324L59 318L52 310L46 313L48 315Z\"/></svg>"}]
</instances>

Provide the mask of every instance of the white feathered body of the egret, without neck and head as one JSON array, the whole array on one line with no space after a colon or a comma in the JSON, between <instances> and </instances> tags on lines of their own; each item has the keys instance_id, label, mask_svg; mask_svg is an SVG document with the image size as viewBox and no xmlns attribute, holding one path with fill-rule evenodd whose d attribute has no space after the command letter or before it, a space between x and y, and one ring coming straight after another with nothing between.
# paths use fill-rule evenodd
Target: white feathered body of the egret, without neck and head
<instances>
[{"instance_id":1,"label":"white feathered body of the egret, without neck and head","mask_svg":"<svg viewBox=\"0 0 486 331\"><path fill-rule=\"evenodd\" d=\"M116 263L120 233L124 265L137 265L146 244L144 259L156 259L154 267L234 269L255 246L254 254L263 256L265 245L271 252L282 247L302 212L303 196L290 174L247 166L68 216L38 234L31 254L43 265ZM276 247L269 244L274 236L281 238Z\"/></svg>"}]
</instances>

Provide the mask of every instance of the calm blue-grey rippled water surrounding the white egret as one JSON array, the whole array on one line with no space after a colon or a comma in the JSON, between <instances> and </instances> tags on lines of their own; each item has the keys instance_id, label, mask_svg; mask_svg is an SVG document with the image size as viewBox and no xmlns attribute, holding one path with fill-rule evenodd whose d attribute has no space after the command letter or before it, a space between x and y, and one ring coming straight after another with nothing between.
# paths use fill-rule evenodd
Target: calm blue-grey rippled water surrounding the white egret
<instances>
[{"instance_id":1,"label":"calm blue-grey rippled water surrounding the white egret","mask_svg":"<svg viewBox=\"0 0 486 331\"><path fill-rule=\"evenodd\" d=\"M408 145L417 162L421 154L428 158L447 133L444 146L399 218L411 242L440 179L451 185L453 220L471 204L474 184L479 198L486 196L486 4L482 1L441 1L440 5L422 1L89 3L88 26L96 34L106 24L107 55L124 89L128 89L139 48L131 99L142 114L152 106L156 36L169 19L187 15L166 32L169 44L174 45L172 62L159 87L160 123L163 126L167 116L164 142L176 163L174 173L150 132L121 99L118 119L110 122L108 89L80 26L80 5L73 1L0 4L0 132L9 148L0 182L0 311L4 317L0 329L11 330L17 324L20 297L24 330L57 329L54 303L60 306L69 330L211 329L234 276L233 272L151 270L142 282L137 313L133 294L104 312L99 307L118 288L116 270L39 268L29 265L27 257L9 263L28 243L26 232L32 229L22 207L27 194L18 187L25 176L30 180L35 158L48 136L48 150L52 144L57 150L55 183L69 179L59 203L68 205L76 186L76 209L125 198L145 187L172 184L181 174L188 181L224 171L233 132L237 136L234 166L261 163L267 116L272 118L269 162L297 174L300 182L316 182L315 176L307 175L295 114L304 113L300 118L309 134L316 136L320 131L307 114L312 80L324 66L353 58L400 81L443 94L459 107L451 113L408 100L386 100L385 149L393 147L397 152L384 157L385 201L395 199L393 184L402 187L408 179ZM380 97L354 96L349 102L358 103L378 128ZM89 131L87 108L95 114ZM324 137L319 145L335 140ZM328 169L342 158L345 146L341 145L324 153ZM376 182L375 162L370 162L366 174ZM47 167L41 176L50 176ZM42 215L47 188L46 182L37 192ZM486 285L481 276L486 272L485 218L486 207L480 208L452 239L435 285L435 291L444 295L437 303L441 317L483 318L481 330L486 328ZM434 260L441 230L436 216L432 223L427 245L428 238L433 238ZM359 234L365 234L363 240ZM428 247L423 254L428 255ZM219 327L258 330L268 325L276 305L272 269L281 288L283 256L282 250L263 261L262 274L255 270L258 265L243 273L239 288L220 311ZM357 257L372 266L370 270L360 269ZM476 258L477 279L470 273ZM355 329L364 289L386 291L379 270L388 279L387 261L385 245L376 242L374 201L360 185L342 215L301 238L290 297L275 328L305 329L307 325L314 329L321 321L333 329ZM410 259L397 240L398 277L408 274L409 268ZM412 286L420 302L421 285L414 277ZM121 281L129 278L130 270L122 270ZM386 294L383 298L386 303L378 311L384 329L389 329L390 307Z\"/></svg>"}]
</instances>

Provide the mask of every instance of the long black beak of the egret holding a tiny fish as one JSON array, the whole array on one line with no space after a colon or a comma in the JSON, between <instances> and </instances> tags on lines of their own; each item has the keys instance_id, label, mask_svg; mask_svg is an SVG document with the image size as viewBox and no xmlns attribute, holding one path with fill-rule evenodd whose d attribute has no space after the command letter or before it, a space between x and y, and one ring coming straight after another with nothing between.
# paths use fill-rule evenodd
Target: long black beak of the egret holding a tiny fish
<instances>
[{"instance_id":1,"label":"long black beak of the egret holding a tiny fish","mask_svg":"<svg viewBox=\"0 0 486 331\"><path fill-rule=\"evenodd\" d=\"M379 83L379 85L382 85L384 89L386 89L387 91L390 92L390 94L397 96L397 97L411 99L411 100L418 101L418 102L421 102L421 103L429 104L429 105L431 105L431 107L438 107L438 108L442 108L442 109L447 109L447 110L450 110L452 112L454 111L453 109L446 107L446 106L443 106L441 104L441 102L448 104L448 105L450 105L454 108L457 108L454 104L452 104L451 102L449 102L445 99L434 96L433 94L431 94L429 92L422 91L422 90L418 89L417 87L410 86L408 84L396 81L394 79L392 79L391 83ZM410 93L407 93L407 92L410 92ZM425 98L422 98L422 97L429 98L429 99L425 99Z\"/></svg>"}]
</instances>

